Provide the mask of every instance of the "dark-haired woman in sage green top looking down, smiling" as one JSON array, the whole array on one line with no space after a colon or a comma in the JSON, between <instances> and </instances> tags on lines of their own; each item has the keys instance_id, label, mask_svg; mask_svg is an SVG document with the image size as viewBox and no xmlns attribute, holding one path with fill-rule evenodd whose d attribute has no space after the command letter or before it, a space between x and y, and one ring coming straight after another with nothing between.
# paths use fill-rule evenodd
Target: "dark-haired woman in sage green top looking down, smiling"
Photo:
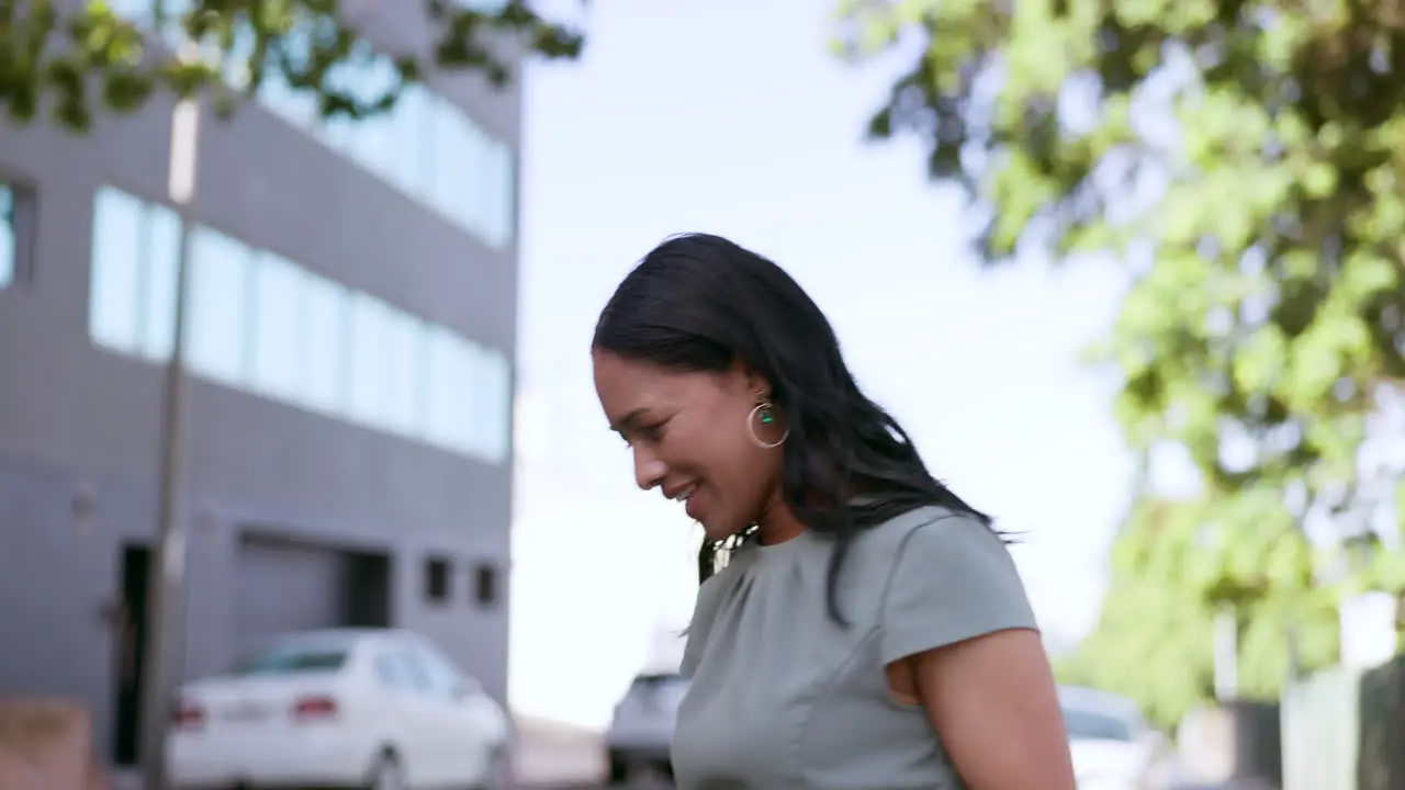
<instances>
[{"instance_id":1,"label":"dark-haired woman in sage green top looking down, smiling","mask_svg":"<svg viewBox=\"0 0 1405 790\"><path fill-rule=\"evenodd\" d=\"M707 536L680 790L1073 790L1005 543L860 392L780 267L669 239L610 299L593 361L639 488Z\"/></svg>"}]
</instances>

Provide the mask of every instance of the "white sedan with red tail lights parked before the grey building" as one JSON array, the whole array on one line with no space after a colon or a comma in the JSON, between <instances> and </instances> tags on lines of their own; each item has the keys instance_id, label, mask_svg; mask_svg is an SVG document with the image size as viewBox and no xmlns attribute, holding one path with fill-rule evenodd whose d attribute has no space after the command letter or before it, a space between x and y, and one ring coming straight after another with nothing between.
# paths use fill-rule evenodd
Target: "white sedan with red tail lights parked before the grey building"
<instances>
[{"instance_id":1,"label":"white sedan with red tail lights parked before the grey building","mask_svg":"<svg viewBox=\"0 0 1405 790\"><path fill-rule=\"evenodd\" d=\"M507 715L427 638L327 630L274 640L180 692L173 786L493 787Z\"/></svg>"}]
</instances>

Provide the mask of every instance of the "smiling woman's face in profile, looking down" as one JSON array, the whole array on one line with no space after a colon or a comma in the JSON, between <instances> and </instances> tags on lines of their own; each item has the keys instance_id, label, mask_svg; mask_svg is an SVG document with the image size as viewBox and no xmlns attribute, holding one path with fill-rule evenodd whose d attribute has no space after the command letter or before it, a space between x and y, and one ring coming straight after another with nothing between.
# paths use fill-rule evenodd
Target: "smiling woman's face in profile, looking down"
<instances>
[{"instance_id":1,"label":"smiling woman's face in profile, looking down","mask_svg":"<svg viewBox=\"0 0 1405 790\"><path fill-rule=\"evenodd\" d=\"M596 394L610 427L634 450L639 488L686 502L711 540L736 534L777 502L780 422L762 426L753 409L770 392L739 365L726 373L674 373L610 351L593 351Z\"/></svg>"}]
</instances>

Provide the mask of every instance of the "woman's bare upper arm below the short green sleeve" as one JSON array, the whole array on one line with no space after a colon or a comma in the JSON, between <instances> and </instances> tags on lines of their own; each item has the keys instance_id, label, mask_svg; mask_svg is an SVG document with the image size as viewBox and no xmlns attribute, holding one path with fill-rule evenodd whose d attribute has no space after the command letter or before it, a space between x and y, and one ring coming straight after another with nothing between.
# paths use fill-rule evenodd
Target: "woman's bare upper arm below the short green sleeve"
<instances>
[{"instance_id":1,"label":"woman's bare upper arm below the short green sleeve","mask_svg":"<svg viewBox=\"0 0 1405 790\"><path fill-rule=\"evenodd\" d=\"M1054 673L1038 633L996 631L917 654L906 663L919 701L971 790L1076 789Z\"/></svg>"}]
</instances>

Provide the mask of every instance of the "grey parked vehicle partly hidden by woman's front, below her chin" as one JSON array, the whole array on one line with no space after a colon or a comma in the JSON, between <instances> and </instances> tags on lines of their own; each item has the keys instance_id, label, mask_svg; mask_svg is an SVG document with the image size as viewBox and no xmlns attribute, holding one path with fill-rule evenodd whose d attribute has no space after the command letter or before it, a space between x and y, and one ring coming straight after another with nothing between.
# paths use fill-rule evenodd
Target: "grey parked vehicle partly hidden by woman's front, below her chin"
<instances>
[{"instance_id":1,"label":"grey parked vehicle partly hidden by woman's front, below her chin","mask_svg":"<svg viewBox=\"0 0 1405 790\"><path fill-rule=\"evenodd\" d=\"M688 682L676 673L639 675L615 706L606 732L610 783L629 779L635 768L652 768L672 776L669 746L679 720L679 703Z\"/></svg>"}]
</instances>

